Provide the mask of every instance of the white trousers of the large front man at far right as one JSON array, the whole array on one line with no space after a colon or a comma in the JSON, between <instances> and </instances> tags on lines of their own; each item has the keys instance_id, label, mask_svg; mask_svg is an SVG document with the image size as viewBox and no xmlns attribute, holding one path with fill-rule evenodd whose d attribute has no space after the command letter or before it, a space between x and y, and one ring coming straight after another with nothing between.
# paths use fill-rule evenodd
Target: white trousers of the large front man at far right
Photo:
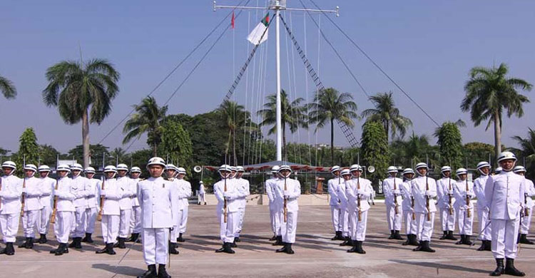
<instances>
[{"instance_id":1,"label":"white trousers of the large front man at far right","mask_svg":"<svg viewBox=\"0 0 535 278\"><path fill-rule=\"evenodd\" d=\"M492 254L494 258L516 258L516 237L518 237L520 220L491 220L492 226Z\"/></svg>"}]
</instances>

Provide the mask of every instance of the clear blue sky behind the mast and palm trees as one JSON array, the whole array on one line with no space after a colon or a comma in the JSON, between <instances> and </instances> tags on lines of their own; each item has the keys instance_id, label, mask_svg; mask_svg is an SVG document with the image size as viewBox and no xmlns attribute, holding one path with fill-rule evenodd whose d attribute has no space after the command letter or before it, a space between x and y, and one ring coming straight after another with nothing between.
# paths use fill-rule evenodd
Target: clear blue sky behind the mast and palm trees
<instances>
[{"instance_id":1,"label":"clear blue sky behind the mast and palm trees","mask_svg":"<svg viewBox=\"0 0 535 278\"><path fill-rule=\"evenodd\" d=\"M220 0L218 4L238 2ZM265 5L265 1L257 0L251 0L250 5L257 2ZM459 118L465 120L464 143L475 140L493 143L494 140L491 129L485 132L484 126L474 128L469 116L459 109L470 68L490 67L493 63L497 66L504 62L509 65L511 76L535 83L534 1L316 2L325 9L340 6L340 17L335 19L337 24L435 120L439 123ZM312 6L309 0L305 0L305 4ZM81 46L83 59L107 58L121 73L121 92L113 102L113 112L102 125L91 125L91 143L98 143L131 110L131 105L141 101L228 13L228 10L213 12L211 6L210 0L2 1L0 74L14 81L19 96L14 101L0 98L0 116L4 118L0 147L16 150L19 135L29 126L36 130L39 143L54 145L63 152L81 143L81 125L64 124L57 110L46 107L41 100L41 91L46 87L46 68L61 60L80 59L78 46ZM299 7L300 3L289 0L288 6ZM169 113L193 115L217 107L247 57L250 44L245 37L262 16L262 11L245 11L236 19L234 31L223 36L168 103ZM318 69L324 85L352 93L359 112L371 108L327 43L318 43L317 28L312 21L308 18L305 21L302 12L283 16L291 22L301 46L307 46L307 56ZM402 114L413 120L414 133L431 136L434 123L425 118L325 18L315 15L315 19L320 21L325 34L342 53L367 92L393 91ZM225 24L230 24L230 19ZM221 30L218 29L215 35ZM214 39L215 36L203 44L188 63L156 91L154 96L159 103L168 99ZM274 46L273 28L269 40L260 48L257 60L251 63L248 76L235 92L235 101L250 110L258 110L263 97L275 91ZM308 80L306 86L302 62L297 53L293 52L292 56L292 51L290 41L282 36L282 88L290 91L292 97L311 100L313 83ZM259 73L260 65L265 66L262 73ZM263 83L258 83L259 78ZM534 93L526 94L535 101ZM504 120L504 144L514 145L511 136L524 136L528 127L534 128L533 108L534 103L529 103L524 107L524 118ZM362 122L357 122L354 130L357 138L360 138L361 125ZM103 144L112 148L121 146L121 128ZM347 145L340 130L335 130L335 143ZM312 130L300 130L299 135L289 135L289 140L327 143L329 132L328 129L320 130L315 135ZM145 146L142 139L134 143L131 150Z\"/></svg>"}]
</instances>

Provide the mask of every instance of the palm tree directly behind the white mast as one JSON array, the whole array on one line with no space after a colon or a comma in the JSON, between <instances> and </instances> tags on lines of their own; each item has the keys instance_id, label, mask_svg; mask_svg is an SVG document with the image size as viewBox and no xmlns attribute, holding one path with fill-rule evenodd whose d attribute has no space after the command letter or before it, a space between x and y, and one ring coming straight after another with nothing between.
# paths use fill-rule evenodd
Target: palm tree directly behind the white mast
<instances>
[{"instance_id":1,"label":"palm tree directly behind the white mast","mask_svg":"<svg viewBox=\"0 0 535 278\"><path fill-rule=\"evenodd\" d=\"M291 133L295 133L298 128L308 128L307 107L301 105L304 98L295 98L290 102L286 91L280 90L280 123L282 130L282 155L286 157L286 127L290 128ZM267 132L271 135L277 132L277 95L275 93L267 96L267 103L264 109L258 110L257 115L262 116L262 125L273 125Z\"/></svg>"}]
</instances>

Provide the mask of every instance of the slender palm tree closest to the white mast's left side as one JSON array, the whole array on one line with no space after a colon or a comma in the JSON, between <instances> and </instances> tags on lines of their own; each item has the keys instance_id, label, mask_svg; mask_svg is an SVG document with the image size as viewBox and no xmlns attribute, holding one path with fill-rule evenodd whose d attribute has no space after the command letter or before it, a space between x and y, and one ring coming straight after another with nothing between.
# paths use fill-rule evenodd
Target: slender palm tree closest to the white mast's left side
<instances>
[{"instance_id":1,"label":"slender palm tree closest to the white mast's left side","mask_svg":"<svg viewBox=\"0 0 535 278\"><path fill-rule=\"evenodd\" d=\"M228 140L225 148L225 155L228 155L230 142L232 141L233 162L234 165L238 165L238 157L236 156L236 131L240 130L241 125L243 125L243 128L249 129L250 113L245 110L243 105L239 105L234 101L223 101L218 108L218 113L220 113L221 119L228 128Z\"/></svg>"}]
</instances>

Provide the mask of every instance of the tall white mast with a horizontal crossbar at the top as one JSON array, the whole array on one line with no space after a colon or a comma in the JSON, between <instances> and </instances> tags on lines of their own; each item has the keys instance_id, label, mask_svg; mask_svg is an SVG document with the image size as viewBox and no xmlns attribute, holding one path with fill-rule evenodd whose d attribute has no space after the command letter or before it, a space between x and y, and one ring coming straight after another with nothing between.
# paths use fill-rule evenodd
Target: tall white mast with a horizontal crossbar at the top
<instances>
[{"instance_id":1,"label":"tall white mast with a horizontal crossbar at the top","mask_svg":"<svg viewBox=\"0 0 535 278\"><path fill-rule=\"evenodd\" d=\"M213 10L216 9L266 9L265 7L256 7L256 6L218 6L213 1ZM277 91L275 91L277 96L277 109L276 109L276 135L277 135L277 160L282 160L282 107L280 104L280 10L288 11L315 11L321 13L336 13L336 16L339 16L340 8L337 6L336 10L320 10L320 9L294 9L286 8L286 0L270 0L270 5L267 9L275 10L275 68L277 71Z\"/></svg>"}]
</instances>

